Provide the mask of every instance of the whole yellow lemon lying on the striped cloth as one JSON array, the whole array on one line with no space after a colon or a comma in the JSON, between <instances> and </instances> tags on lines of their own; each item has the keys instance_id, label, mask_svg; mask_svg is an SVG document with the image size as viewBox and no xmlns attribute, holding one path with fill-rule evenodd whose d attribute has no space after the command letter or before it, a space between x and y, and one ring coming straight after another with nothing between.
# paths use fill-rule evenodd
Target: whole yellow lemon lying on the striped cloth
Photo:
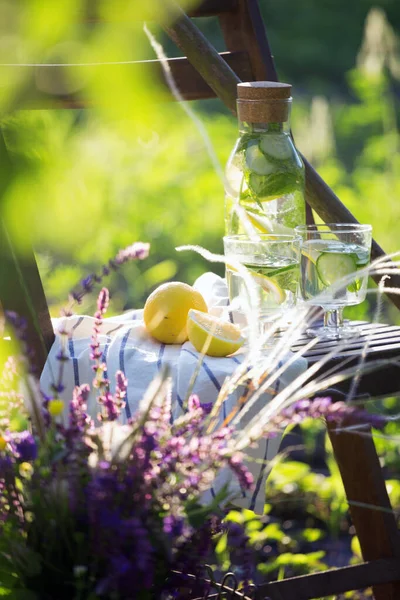
<instances>
[{"instance_id":1,"label":"whole yellow lemon lying on the striped cloth","mask_svg":"<svg viewBox=\"0 0 400 600\"><path fill-rule=\"evenodd\" d=\"M183 344L188 339L186 323L191 308L207 312L200 292L178 281L164 283L150 294L144 305L146 329L159 342Z\"/></svg>"}]
</instances>

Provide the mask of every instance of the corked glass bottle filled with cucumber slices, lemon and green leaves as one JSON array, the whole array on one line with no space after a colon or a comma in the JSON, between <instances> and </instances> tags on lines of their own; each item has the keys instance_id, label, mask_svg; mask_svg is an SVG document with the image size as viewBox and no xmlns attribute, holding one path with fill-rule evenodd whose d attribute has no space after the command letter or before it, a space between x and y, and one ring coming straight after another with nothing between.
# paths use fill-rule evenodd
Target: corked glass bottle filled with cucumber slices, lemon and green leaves
<instances>
[{"instance_id":1,"label":"corked glass bottle filled with cucumber slices, lemon and green leaves","mask_svg":"<svg viewBox=\"0 0 400 600\"><path fill-rule=\"evenodd\" d=\"M304 165L290 134L292 86L237 86L240 136L225 171L227 234L291 233L305 223Z\"/></svg>"}]
</instances>

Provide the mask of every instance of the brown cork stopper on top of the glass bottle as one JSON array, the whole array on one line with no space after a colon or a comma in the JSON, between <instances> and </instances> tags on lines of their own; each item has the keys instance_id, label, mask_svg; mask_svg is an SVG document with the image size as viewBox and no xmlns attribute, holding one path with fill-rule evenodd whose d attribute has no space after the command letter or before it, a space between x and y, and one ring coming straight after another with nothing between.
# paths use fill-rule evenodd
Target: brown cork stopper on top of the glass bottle
<instances>
[{"instance_id":1,"label":"brown cork stopper on top of the glass bottle","mask_svg":"<svg viewBox=\"0 0 400 600\"><path fill-rule=\"evenodd\" d=\"M247 81L237 85L239 121L284 123L289 119L292 86L275 81Z\"/></svg>"}]
</instances>

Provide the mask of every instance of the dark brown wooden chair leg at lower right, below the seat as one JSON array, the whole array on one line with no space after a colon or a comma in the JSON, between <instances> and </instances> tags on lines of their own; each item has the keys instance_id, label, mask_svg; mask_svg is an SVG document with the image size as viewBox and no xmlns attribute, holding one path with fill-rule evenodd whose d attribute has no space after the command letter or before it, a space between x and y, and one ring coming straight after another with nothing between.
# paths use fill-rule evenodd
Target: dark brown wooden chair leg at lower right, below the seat
<instances>
[{"instance_id":1,"label":"dark brown wooden chair leg at lower right, below the seat","mask_svg":"<svg viewBox=\"0 0 400 600\"><path fill-rule=\"evenodd\" d=\"M354 430L336 431L335 425L328 424L361 552L366 561L378 558L400 560L397 523L370 435L371 429L359 431L363 435ZM400 582L377 585L373 592L375 600L398 600Z\"/></svg>"}]
</instances>

